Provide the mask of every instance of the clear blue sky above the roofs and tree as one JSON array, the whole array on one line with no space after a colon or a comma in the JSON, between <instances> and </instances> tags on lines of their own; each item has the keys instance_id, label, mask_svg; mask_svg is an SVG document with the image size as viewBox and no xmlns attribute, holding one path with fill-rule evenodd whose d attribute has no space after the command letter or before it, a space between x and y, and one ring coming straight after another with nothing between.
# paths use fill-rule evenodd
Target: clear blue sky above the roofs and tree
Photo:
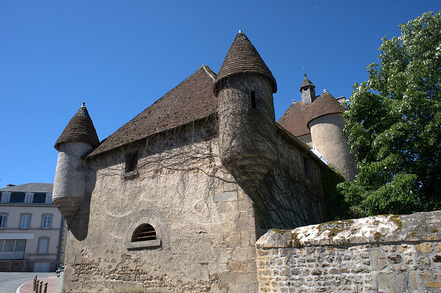
<instances>
[{"instance_id":1,"label":"clear blue sky above the roofs and tree","mask_svg":"<svg viewBox=\"0 0 441 293\"><path fill-rule=\"evenodd\" d=\"M0 1L0 187L53 182L54 143L85 102L103 140L243 30L278 83L276 119L320 94L349 98L381 38L436 1Z\"/></svg>"}]
</instances>

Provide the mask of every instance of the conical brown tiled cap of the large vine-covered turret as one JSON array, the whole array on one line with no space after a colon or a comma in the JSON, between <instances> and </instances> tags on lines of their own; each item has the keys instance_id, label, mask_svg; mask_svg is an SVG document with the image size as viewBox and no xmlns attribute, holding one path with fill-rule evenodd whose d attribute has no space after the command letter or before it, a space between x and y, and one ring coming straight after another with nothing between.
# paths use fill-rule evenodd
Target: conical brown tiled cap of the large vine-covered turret
<instances>
[{"instance_id":1,"label":"conical brown tiled cap of the large vine-covered turret","mask_svg":"<svg viewBox=\"0 0 441 293\"><path fill-rule=\"evenodd\" d=\"M242 31L239 31L227 56L220 67L219 74L214 83L213 91L217 96L220 82L234 74L254 73L267 76L271 80L273 93L277 91L276 79L269 71L265 62L258 54L254 45L249 41Z\"/></svg>"}]
</instances>

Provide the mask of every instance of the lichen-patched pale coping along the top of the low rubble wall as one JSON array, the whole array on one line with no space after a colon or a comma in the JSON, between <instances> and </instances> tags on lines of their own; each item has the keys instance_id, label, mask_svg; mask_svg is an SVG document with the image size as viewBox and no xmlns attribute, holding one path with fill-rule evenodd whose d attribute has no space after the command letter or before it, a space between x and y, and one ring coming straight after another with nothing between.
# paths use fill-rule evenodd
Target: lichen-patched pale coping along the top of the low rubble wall
<instances>
[{"instance_id":1,"label":"lichen-patched pale coping along the top of the low rubble wall","mask_svg":"<svg viewBox=\"0 0 441 293\"><path fill-rule=\"evenodd\" d=\"M294 230L270 229L258 239L256 248L438 241L441 239L440 230L441 210L412 215L379 215L330 221Z\"/></svg>"}]
</instances>

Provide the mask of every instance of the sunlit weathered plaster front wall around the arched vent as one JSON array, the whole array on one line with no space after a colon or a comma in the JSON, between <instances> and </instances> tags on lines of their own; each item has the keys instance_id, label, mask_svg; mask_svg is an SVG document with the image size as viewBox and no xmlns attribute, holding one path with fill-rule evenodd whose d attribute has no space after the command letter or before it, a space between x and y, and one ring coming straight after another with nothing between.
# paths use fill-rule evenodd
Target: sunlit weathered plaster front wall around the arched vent
<instances>
[{"instance_id":1,"label":"sunlit weathered plaster front wall around the arched vent","mask_svg":"<svg viewBox=\"0 0 441 293\"><path fill-rule=\"evenodd\" d=\"M63 290L254 292L252 201L223 169L213 122L95 158L81 213L70 223ZM138 149L134 173L125 153ZM126 248L152 219L161 246Z\"/></svg>"}]
</instances>

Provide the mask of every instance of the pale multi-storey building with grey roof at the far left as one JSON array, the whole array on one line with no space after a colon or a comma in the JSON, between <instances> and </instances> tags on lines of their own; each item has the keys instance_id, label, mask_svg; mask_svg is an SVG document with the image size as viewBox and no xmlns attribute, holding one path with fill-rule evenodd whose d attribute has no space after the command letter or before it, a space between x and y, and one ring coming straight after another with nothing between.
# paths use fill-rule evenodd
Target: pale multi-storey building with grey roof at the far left
<instances>
[{"instance_id":1,"label":"pale multi-storey building with grey roof at the far left","mask_svg":"<svg viewBox=\"0 0 441 293\"><path fill-rule=\"evenodd\" d=\"M61 262L63 218L54 184L0 188L0 271L54 272Z\"/></svg>"}]
</instances>

